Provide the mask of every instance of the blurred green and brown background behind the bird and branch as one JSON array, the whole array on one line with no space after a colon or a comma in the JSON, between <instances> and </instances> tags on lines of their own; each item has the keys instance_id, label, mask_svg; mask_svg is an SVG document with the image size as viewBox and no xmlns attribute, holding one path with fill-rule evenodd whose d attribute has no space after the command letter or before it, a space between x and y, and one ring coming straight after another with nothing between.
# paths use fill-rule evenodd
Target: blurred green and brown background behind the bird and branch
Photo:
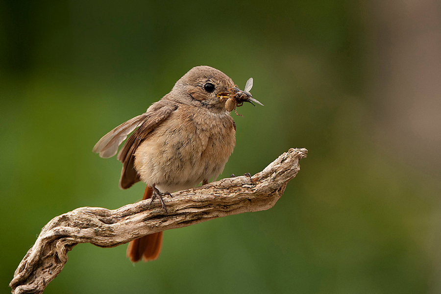
<instances>
[{"instance_id":1,"label":"blurred green and brown background behind the bird and branch","mask_svg":"<svg viewBox=\"0 0 441 294\"><path fill-rule=\"evenodd\" d=\"M50 219L142 197L92 147L210 65L265 104L221 177L306 147L285 194L146 264L75 246L45 293L440 293L441 6L385 2L1 1L0 292Z\"/></svg>"}]
</instances>

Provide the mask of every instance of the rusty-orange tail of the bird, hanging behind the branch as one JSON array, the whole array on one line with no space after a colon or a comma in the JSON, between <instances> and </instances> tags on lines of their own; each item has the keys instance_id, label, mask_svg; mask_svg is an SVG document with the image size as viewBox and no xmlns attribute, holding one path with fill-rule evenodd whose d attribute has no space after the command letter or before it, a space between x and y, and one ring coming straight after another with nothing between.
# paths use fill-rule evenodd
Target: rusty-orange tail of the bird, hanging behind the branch
<instances>
[{"instance_id":1,"label":"rusty-orange tail of the bird, hanging behind the branch","mask_svg":"<svg viewBox=\"0 0 441 294\"><path fill-rule=\"evenodd\" d=\"M153 190L147 185L143 200L152 196ZM150 234L130 241L127 247L127 257L131 262L155 260L161 252L162 232Z\"/></svg>"}]
</instances>

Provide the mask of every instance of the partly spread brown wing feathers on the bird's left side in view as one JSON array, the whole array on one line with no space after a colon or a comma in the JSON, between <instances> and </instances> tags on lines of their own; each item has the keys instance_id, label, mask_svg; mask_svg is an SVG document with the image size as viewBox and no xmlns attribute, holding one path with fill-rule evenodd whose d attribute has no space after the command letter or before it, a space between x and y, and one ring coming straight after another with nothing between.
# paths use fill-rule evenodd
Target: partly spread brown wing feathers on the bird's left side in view
<instances>
[{"instance_id":1,"label":"partly spread brown wing feathers on the bird's left side in view","mask_svg":"<svg viewBox=\"0 0 441 294\"><path fill-rule=\"evenodd\" d=\"M112 157L117 153L118 146L127 138L127 135L139 127L127 139L118 154L118 160L123 163L120 179L120 187L122 189L127 189L140 180L133 166L136 148L138 148L141 141L146 138L147 134L155 126L167 119L177 108L177 106L171 104L155 104L147 109L146 113L134 117L108 132L98 141L93 149L95 153L99 153L100 157Z\"/></svg>"}]
</instances>

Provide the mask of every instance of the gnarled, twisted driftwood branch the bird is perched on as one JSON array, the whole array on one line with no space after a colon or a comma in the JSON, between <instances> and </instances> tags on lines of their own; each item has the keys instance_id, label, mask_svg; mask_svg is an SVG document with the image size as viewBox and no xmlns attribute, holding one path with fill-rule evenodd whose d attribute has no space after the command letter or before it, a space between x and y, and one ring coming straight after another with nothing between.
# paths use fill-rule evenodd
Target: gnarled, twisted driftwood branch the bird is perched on
<instances>
[{"instance_id":1,"label":"gnarled, twisted driftwood branch the bird is perched on","mask_svg":"<svg viewBox=\"0 0 441 294\"><path fill-rule=\"evenodd\" d=\"M226 178L165 198L168 215L159 201L125 205L116 210L81 207L58 216L42 229L15 270L12 293L42 293L63 269L67 252L79 243L114 247L159 231L243 212L271 208L300 170L306 149L291 148L252 177Z\"/></svg>"}]
</instances>

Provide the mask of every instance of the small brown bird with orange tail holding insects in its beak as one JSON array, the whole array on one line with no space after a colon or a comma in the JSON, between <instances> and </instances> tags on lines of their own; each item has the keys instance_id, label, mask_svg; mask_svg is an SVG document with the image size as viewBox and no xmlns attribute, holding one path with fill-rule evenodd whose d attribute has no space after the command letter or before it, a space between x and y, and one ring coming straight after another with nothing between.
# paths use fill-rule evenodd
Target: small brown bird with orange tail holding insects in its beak
<instances>
[{"instance_id":1,"label":"small brown bird with orange tail holding insects in its beak","mask_svg":"<svg viewBox=\"0 0 441 294\"><path fill-rule=\"evenodd\" d=\"M244 101L261 104L248 92L251 86L249 79L241 91L221 71L194 67L146 113L102 137L93 151L112 157L134 131L118 153L123 163L120 188L143 181L147 184L143 200L159 198L167 213L162 196L208 184L222 172L236 144L236 124L228 112ZM155 260L161 245L162 232L147 235L130 242L127 257L132 262Z\"/></svg>"}]
</instances>

